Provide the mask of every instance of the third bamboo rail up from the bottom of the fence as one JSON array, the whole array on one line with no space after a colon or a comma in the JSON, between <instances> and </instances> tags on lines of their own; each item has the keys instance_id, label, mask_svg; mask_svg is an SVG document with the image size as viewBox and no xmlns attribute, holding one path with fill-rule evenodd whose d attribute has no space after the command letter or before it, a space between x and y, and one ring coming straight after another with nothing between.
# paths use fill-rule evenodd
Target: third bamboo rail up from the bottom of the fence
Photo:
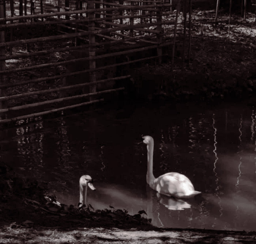
<instances>
[{"instance_id":1,"label":"third bamboo rail up from the bottom of the fence","mask_svg":"<svg viewBox=\"0 0 256 244\"><path fill-rule=\"evenodd\" d=\"M80 88L80 87L86 87L86 86L89 86L89 85L106 83L106 82L112 81L112 80L123 80L123 79L127 79L129 77L131 77L131 75L118 76L118 77L104 79L104 80L98 80L98 81L94 81L94 82L87 82L87 83L81 83L81 84L76 84L76 85L68 85L68 86L65 86L65 87L58 87L58 88L41 90L41 91L26 92L26 93L15 94L15 95L10 95L10 96L2 96L2 97L0 97L0 101L23 98L23 97L26 97L26 96L34 96L34 95L39 95L39 94L46 94L46 93L50 93L50 92L60 92L60 91L63 91L63 90L69 90L69 89L75 89L75 88Z\"/></svg>"}]
</instances>

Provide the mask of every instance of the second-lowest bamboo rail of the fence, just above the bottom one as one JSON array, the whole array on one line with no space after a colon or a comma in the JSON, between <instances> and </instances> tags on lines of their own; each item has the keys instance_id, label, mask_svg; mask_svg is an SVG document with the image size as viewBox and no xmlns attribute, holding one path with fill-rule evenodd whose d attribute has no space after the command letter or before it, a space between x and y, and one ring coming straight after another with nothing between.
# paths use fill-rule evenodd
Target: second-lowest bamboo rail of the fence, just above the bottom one
<instances>
[{"instance_id":1,"label":"second-lowest bamboo rail of the fence, just above the bottom one","mask_svg":"<svg viewBox=\"0 0 256 244\"><path fill-rule=\"evenodd\" d=\"M94 95L100 95L100 94L104 94L104 93L121 91L121 90L124 90L124 87L116 88L116 89L109 89L109 90L99 91L99 92L90 92L90 93L82 94L82 95L68 96L65 98L46 100L44 102L30 103L30 104L25 104L25 105L21 105L21 106L10 107L10 108L3 108L3 109L0 109L0 113L5 113L5 112L9 112L9 111L18 111L18 110L25 109L25 108L33 108L33 107L38 107L38 106L51 104L51 103L60 103L60 102L64 102L64 101L68 101L68 100L72 100L72 99L85 98L87 96L91 97Z\"/></svg>"}]
</instances>

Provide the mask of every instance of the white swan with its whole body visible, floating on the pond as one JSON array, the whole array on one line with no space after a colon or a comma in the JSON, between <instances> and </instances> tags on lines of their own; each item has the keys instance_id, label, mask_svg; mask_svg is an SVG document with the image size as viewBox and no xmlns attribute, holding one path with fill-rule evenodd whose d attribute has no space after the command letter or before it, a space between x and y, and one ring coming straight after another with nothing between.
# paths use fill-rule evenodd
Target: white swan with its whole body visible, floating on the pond
<instances>
[{"instance_id":1,"label":"white swan with its whole body visible, floating on the pond","mask_svg":"<svg viewBox=\"0 0 256 244\"><path fill-rule=\"evenodd\" d=\"M143 136L142 138L147 145L147 183L153 190L176 198L191 198L201 193L195 191L191 181L179 173L166 173L155 179L153 175L154 140L151 136Z\"/></svg>"}]
</instances>

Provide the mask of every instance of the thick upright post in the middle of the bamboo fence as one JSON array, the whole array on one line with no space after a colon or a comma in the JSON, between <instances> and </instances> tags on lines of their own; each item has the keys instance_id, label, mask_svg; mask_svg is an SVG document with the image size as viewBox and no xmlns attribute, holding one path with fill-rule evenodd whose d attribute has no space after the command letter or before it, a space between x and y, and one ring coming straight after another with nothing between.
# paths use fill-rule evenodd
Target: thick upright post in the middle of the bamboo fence
<instances>
[{"instance_id":1,"label":"thick upright post in the middle of the bamboo fence","mask_svg":"<svg viewBox=\"0 0 256 244\"><path fill-rule=\"evenodd\" d=\"M93 0L88 0L87 3L88 9L94 9L94 3ZM95 22L94 22L95 15L94 13L88 13L88 31L89 31L89 57L95 58L96 56L96 47L95 47L95 34L93 33L95 30ZM95 69L96 68L96 60L92 59L89 61L89 68ZM96 71L92 70L90 71L90 82L96 81ZM96 85L90 85L90 92L96 92ZM90 96L90 101L92 100L92 97Z\"/></svg>"}]
</instances>

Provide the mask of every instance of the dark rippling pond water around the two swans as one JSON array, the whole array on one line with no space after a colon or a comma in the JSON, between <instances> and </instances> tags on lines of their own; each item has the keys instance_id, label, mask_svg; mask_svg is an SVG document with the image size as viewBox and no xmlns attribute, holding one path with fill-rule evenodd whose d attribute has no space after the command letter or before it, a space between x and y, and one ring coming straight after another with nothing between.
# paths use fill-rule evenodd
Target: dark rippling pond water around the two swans
<instances>
[{"instance_id":1,"label":"dark rippling pond water around the two swans","mask_svg":"<svg viewBox=\"0 0 256 244\"><path fill-rule=\"evenodd\" d=\"M150 190L142 134L155 140L156 177L180 172L203 193L176 201ZM256 230L256 119L245 105L100 109L2 130L0 146L2 161L49 182L61 203L77 205L89 174L95 209L143 209L159 227Z\"/></svg>"}]
</instances>

